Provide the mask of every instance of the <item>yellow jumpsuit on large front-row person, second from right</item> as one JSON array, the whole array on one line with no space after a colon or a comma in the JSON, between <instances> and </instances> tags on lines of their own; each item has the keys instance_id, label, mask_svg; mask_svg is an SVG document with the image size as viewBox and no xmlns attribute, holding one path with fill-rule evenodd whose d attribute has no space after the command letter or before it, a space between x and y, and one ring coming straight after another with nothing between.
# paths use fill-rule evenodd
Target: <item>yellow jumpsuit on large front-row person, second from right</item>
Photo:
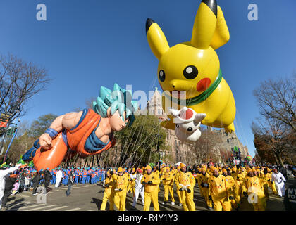
<instances>
[{"instance_id":1,"label":"yellow jumpsuit on large front-row person, second from right","mask_svg":"<svg viewBox=\"0 0 296 225\"><path fill-rule=\"evenodd\" d=\"M209 195L214 203L215 211L230 211L231 203L228 200L228 184L223 175L218 177L212 175L209 178Z\"/></svg>"}]
</instances>

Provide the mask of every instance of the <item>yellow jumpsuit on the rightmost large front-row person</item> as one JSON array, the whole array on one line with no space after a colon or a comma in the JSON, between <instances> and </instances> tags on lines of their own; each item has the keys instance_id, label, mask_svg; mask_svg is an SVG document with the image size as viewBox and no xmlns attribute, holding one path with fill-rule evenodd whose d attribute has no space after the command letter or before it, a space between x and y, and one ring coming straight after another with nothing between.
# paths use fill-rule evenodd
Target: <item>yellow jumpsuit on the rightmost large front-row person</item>
<instances>
[{"instance_id":1,"label":"yellow jumpsuit on the rightmost large front-row person","mask_svg":"<svg viewBox=\"0 0 296 225\"><path fill-rule=\"evenodd\" d=\"M248 193L248 201L252 203L255 211L265 211L266 198L262 191L260 179L257 176L246 176L242 191Z\"/></svg>"}]
</instances>

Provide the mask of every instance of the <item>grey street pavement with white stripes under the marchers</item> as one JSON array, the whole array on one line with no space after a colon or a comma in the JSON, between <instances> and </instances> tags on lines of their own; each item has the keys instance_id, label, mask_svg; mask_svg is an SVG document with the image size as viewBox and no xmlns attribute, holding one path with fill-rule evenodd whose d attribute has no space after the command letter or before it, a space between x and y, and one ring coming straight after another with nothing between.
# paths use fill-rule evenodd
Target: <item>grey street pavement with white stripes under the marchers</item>
<instances>
[{"instance_id":1,"label":"grey street pavement with white stripes under the marchers","mask_svg":"<svg viewBox=\"0 0 296 225\"><path fill-rule=\"evenodd\" d=\"M289 180L286 187L290 184L296 184L296 180ZM47 203L37 204L37 195L32 196L32 191L23 191L16 195L10 196L6 204L8 211L98 211L101 207L101 200L104 195L104 188L101 184L76 184L72 186L70 196L66 196L67 186L49 186L51 191L47 193ZM175 205L171 202L166 205L161 203L164 200L164 188L160 186L159 193L159 209L161 211L180 211L182 207L178 206L178 195L175 191ZM270 200L267 201L266 211L285 211L283 198L274 195L269 189ZM204 198L200 195L197 184L195 185L195 207L197 211L209 211L206 207ZM132 209L132 194L128 193L126 198L126 210L142 211L141 197L137 200L135 209ZM171 197L169 196L169 200ZM106 205L109 209L109 203ZM115 207L115 210L116 207ZM153 211L153 203L150 205L150 210ZM242 198L239 211L254 211L252 204L247 202L247 198Z\"/></svg>"}]
</instances>

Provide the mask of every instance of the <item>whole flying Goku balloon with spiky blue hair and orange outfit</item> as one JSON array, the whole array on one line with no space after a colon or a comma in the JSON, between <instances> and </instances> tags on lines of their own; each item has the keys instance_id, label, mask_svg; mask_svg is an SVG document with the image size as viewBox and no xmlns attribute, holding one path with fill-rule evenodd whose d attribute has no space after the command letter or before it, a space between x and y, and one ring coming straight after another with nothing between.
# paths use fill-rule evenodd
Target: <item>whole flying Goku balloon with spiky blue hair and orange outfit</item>
<instances>
[{"instance_id":1,"label":"whole flying Goku balloon with spiky blue hair and orange outfit","mask_svg":"<svg viewBox=\"0 0 296 225\"><path fill-rule=\"evenodd\" d=\"M37 171L54 169L75 155L86 158L108 150L116 143L114 131L131 126L137 112L132 92L114 84L113 91L101 86L92 109L56 117L50 127L23 155L33 160Z\"/></svg>"}]
</instances>

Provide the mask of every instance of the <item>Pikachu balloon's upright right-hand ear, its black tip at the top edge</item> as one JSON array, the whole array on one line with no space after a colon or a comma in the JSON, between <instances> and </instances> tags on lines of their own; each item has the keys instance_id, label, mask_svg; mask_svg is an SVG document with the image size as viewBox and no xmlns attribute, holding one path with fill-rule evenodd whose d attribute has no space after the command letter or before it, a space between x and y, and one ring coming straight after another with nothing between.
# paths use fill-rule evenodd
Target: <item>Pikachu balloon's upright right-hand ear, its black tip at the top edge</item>
<instances>
[{"instance_id":1,"label":"Pikachu balloon's upright right-hand ear, its black tip at the top edge","mask_svg":"<svg viewBox=\"0 0 296 225\"><path fill-rule=\"evenodd\" d=\"M217 23L216 0L202 0L193 25L191 45L197 49L207 49L211 44Z\"/></svg>"}]
</instances>

